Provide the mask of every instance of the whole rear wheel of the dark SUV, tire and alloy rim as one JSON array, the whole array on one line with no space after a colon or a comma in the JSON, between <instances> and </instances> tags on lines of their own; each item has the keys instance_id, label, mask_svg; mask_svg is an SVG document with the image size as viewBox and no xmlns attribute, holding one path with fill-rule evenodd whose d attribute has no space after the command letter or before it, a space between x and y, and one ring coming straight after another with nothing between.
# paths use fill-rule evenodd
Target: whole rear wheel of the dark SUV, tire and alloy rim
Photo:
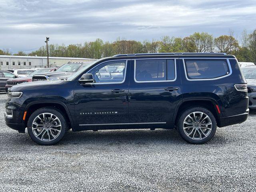
<instances>
[{"instance_id":1,"label":"whole rear wheel of the dark SUV, tire and alloy rim","mask_svg":"<svg viewBox=\"0 0 256 192\"><path fill-rule=\"evenodd\" d=\"M193 107L182 113L177 127L180 136L187 142L203 144L214 136L217 123L208 109Z\"/></svg>"}]
</instances>

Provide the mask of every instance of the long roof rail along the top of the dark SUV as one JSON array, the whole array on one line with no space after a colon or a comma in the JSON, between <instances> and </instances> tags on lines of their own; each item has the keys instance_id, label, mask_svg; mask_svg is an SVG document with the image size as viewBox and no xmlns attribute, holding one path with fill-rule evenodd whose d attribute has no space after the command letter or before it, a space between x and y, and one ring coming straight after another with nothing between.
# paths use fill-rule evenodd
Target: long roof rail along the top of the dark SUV
<instances>
[{"instance_id":1,"label":"long roof rail along the top of the dark SUV","mask_svg":"<svg viewBox=\"0 0 256 192\"><path fill-rule=\"evenodd\" d=\"M125 57L125 56L150 56L150 55L226 55L226 53L137 53L137 54L118 54L112 57Z\"/></svg>"}]
</instances>

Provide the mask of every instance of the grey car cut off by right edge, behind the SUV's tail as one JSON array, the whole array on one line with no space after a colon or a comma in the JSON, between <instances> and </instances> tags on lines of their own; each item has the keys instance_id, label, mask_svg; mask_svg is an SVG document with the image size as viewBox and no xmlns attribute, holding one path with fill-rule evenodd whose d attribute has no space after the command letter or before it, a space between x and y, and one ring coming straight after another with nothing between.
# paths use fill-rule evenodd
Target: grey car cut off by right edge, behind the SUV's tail
<instances>
[{"instance_id":1,"label":"grey car cut off by right edge, behind the SUV's tail","mask_svg":"<svg viewBox=\"0 0 256 192\"><path fill-rule=\"evenodd\" d=\"M242 68L247 81L249 108L256 109L256 66Z\"/></svg>"}]
</instances>

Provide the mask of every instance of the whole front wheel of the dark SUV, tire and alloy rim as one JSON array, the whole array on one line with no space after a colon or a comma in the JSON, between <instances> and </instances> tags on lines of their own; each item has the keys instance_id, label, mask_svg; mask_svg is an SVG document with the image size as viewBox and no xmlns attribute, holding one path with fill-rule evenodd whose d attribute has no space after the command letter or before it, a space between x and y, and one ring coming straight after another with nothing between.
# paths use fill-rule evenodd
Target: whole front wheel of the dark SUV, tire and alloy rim
<instances>
[{"instance_id":1,"label":"whole front wheel of the dark SUV, tire and alloy rim","mask_svg":"<svg viewBox=\"0 0 256 192\"><path fill-rule=\"evenodd\" d=\"M61 112L54 108L40 108L28 119L28 134L40 145L54 145L59 142L68 126Z\"/></svg>"}]
</instances>

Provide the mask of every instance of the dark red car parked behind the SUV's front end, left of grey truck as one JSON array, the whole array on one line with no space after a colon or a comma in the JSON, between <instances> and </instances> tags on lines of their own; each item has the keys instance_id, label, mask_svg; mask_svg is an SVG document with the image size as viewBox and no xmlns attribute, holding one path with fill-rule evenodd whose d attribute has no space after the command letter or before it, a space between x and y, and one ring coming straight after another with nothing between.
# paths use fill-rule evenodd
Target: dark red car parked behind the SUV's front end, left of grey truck
<instances>
[{"instance_id":1,"label":"dark red car parked behind the SUV's front end, left of grey truck","mask_svg":"<svg viewBox=\"0 0 256 192\"><path fill-rule=\"evenodd\" d=\"M54 70L56 70L56 68L41 68L41 69L38 69L38 70L32 72L27 77L10 78L6 81L6 85L5 85L6 93L8 93L8 89L14 85L26 83L26 82L32 82L32 77L36 74L44 74L45 72L51 72Z\"/></svg>"}]
</instances>

